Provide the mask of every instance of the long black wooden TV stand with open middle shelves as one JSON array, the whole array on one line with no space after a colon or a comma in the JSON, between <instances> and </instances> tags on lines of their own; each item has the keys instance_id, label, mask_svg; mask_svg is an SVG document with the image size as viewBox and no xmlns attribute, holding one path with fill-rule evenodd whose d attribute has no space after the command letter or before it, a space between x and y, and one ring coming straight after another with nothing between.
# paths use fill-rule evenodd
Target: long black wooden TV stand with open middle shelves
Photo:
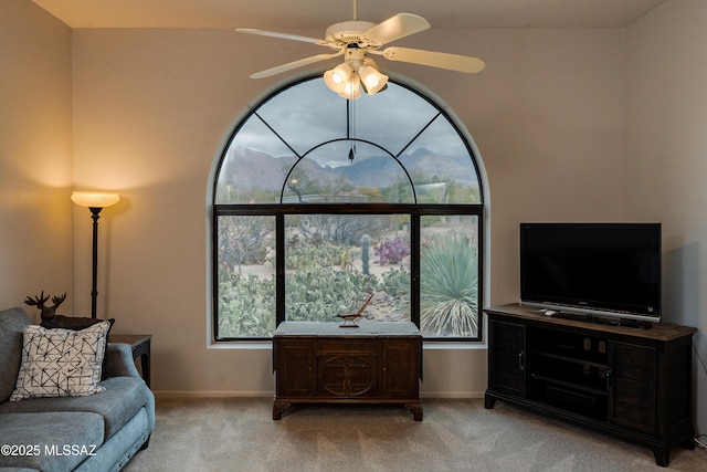
<instances>
[{"instance_id":1,"label":"long black wooden TV stand with open middle shelves","mask_svg":"<svg viewBox=\"0 0 707 472\"><path fill-rule=\"evenodd\" d=\"M653 449L694 449L692 327L642 329L489 307L486 408L504 400Z\"/></svg>"}]
</instances>

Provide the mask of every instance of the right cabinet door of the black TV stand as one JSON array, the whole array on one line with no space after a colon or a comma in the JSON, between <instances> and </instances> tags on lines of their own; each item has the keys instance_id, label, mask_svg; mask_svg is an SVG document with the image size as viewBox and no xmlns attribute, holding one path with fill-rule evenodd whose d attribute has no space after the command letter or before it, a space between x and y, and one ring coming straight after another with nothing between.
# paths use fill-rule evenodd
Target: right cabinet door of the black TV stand
<instances>
[{"instance_id":1,"label":"right cabinet door of the black TV stand","mask_svg":"<svg viewBox=\"0 0 707 472\"><path fill-rule=\"evenodd\" d=\"M655 433L657 349L609 342L609 421Z\"/></svg>"}]
</instances>

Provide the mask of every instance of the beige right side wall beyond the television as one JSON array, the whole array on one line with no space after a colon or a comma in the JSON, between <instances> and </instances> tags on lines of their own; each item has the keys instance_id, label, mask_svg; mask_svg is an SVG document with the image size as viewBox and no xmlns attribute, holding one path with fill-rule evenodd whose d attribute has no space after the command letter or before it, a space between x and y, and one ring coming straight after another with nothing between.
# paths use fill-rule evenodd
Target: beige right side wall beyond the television
<instances>
[{"instance_id":1,"label":"beige right side wall beyond the television","mask_svg":"<svg viewBox=\"0 0 707 472\"><path fill-rule=\"evenodd\" d=\"M666 321L695 326L707 431L707 2L668 0L626 32L626 214L663 222Z\"/></svg>"}]
</instances>

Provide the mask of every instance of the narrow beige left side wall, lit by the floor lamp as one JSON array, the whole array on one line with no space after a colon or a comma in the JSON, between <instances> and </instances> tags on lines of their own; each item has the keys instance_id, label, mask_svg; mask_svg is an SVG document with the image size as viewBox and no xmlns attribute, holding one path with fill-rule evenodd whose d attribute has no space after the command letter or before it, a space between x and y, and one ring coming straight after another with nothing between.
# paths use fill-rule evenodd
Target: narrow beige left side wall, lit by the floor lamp
<instances>
[{"instance_id":1,"label":"narrow beige left side wall, lit by the floor lamp","mask_svg":"<svg viewBox=\"0 0 707 472\"><path fill-rule=\"evenodd\" d=\"M43 290L67 292L60 313L71 313L71 30L32 2L2 0L0 64L0 307Z\"/></svg>"}]
</instances>

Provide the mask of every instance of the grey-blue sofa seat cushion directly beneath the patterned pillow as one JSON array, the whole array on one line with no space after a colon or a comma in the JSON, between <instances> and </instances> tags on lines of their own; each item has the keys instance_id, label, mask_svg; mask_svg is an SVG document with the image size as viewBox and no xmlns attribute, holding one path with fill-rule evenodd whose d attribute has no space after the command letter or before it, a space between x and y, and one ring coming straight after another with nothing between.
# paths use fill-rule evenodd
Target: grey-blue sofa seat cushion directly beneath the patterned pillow
<instances>
[{"instance_id":1,"label":"grey-blue sofa seat cushion directly beneath the patterned pillow","mask_svg":"<svg viewBox=\"0 0 707 472\"><path fill-rule=\"evenodd\" d=\"M105 438L110 438L146 405L150 405L152 392L145 381L135 377L110 377L101 382L102 394L89 397L32 398L0 403L0 416L4 413L30 413L49 411L91 411L104 418Z\"/></svg>"}]
</instances>

